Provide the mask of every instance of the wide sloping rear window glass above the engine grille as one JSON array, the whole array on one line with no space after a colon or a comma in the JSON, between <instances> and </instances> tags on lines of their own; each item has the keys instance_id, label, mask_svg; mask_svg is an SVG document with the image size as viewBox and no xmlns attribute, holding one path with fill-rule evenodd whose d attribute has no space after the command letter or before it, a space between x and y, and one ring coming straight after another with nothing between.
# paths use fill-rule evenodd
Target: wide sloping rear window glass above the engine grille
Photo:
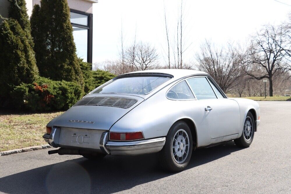
<instances>
[{"instance_id":1,"label":"wide sloping rear window glass above the engine grille","mask_svg":"<svg viewBox=\"0 0 291 194\"><path fill-rule=\"evenodd\" d=\"M97 89L93 93L147 94L170 79L170 77L158 76L121 77Z\"/></svg>"}]
</instances>

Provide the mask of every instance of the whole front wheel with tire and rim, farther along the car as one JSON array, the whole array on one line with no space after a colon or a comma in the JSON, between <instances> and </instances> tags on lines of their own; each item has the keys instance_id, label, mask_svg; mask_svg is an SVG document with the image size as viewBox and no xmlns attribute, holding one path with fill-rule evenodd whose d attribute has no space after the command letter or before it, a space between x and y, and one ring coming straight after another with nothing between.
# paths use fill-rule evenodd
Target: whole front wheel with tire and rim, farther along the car
<instances>
[{"instance_id":1,"label":"whole front wheel with tire and rim, farther along the car","mask_svg":"<svg viewBox=\"0 0 291 194\"><path fill-rule=\"evenodd\" d=\"M244 121L244 130L241 134L241 137L234 140L234 143L238 147L249 147L253 142L255 134L255 120L253 114L248 112L246 119Z\"/></svg>"}]
</instances>

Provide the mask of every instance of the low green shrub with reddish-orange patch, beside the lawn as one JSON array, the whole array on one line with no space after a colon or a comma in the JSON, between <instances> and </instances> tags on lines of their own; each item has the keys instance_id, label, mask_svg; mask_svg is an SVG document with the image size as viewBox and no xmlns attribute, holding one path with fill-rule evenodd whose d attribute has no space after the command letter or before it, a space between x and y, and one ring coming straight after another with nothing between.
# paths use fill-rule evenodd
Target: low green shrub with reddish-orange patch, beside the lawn
<instances>
[{"instance_id":1,"label":"low green shrub with reddish-orange patch, beside the lawn","mask_svg":"<svg viewBox=\"0 0 291 194\"><path fill-rule=\"evenodd\" d=\"M80 84L39 77L33 84L20 84L11 92L15 107L28 111L67 110L82 98Z\"/></svg>"}]
</instances>

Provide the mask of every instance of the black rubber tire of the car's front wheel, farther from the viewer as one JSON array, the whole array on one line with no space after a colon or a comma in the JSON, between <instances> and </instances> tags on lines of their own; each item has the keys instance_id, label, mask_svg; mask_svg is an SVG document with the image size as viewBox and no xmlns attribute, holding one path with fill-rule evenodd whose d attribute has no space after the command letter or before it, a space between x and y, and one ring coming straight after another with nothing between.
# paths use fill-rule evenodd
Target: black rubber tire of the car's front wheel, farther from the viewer
<instances>
[{"instance_id":1,"label":"black rubber tire of the car's front wheel, farther from the viewer","mask_svg":"<svg viewBox=\"0 0 291 194\"><path fill-rule=\"evenodd\" d=\"M244 134L244 130L245 130L245 122L246 122L246 119L248 118L251 119L253 128L252 128L251 137L247 140ZM234 140L234 143L237 145L237 147L240 147L240 148L250 147L255 135L255 120L254 120L253 114L251 112L248 112L248 114L246 115L246 119L244 121L244 130L241 133L241 137Z\"/></svg>"}]
</instances>

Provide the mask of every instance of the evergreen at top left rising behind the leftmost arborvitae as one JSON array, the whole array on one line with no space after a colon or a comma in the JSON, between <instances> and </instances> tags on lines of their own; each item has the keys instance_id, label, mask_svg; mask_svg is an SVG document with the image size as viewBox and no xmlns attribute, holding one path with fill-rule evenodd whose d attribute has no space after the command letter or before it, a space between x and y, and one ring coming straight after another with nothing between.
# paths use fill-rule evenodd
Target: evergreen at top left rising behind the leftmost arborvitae
<instances>
[{"instance_id":1,"label":"evergreen at top left rising behind the leftmost arborvitae","mask_svg":"<svg viewBox=\"0 0 291 194\"><path fill-rule=\"evenodd\" d=\"M26 2L25 0L16 0L17 4L15 4L15 0L9 0L10 6L8 9L8 17L15 19L24 30L27 39L29 40L29 44L33 47L33 40L31 38L31 28L29 17L27 14Z\"/></svg>"}]
</instances>

